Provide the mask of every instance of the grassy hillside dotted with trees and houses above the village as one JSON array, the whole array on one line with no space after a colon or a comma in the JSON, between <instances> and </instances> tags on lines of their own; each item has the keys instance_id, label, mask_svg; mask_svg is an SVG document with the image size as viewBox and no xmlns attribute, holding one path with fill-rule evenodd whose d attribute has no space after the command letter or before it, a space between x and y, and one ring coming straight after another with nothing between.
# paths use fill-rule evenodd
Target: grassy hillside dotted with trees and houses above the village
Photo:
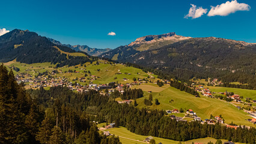
<instances>
[{"instance_id":1,"label":"grassy hillside dotted with trees and houses above the village","mask_svg":"<svg viewBox=\"0 0 256 144\"><path fill-rule=\"evenodd\" d=\"M56 64L49 62L24 64L17 61L10 61L4 63L5 66L10 68L19 68L19 71L14 71L14 75L19 75L20 80L25 80L25 88L34 88L39 83L35 84L33 80L37 81L37 76L46 78L55 77L58 80L66 78L69 82L79 83L80 85L94 84L108 84L110 82L118 83L131 83L133 77L137 79L148 79L148 74L141 69L134 67L125 67L121 64L113 64L108 61L99 60L97 62L86 62L82 65L74 65L71 67L56 67ZM58 71L58 72L57 72ZM52 73L53 72L53 73ZM117 74L118 73L118 74ZM156 77L156 76L155 76ZM78 79L76 79L78 78ZM81 78L83 78L81 80ZM124 80L124 78L126 80ZM29 80L31 82L27 82ZM156 79L150 79L156 81ZM49 88L49 85L47 85ZM36 87L37 88L37 87Z\"/></svg>"}]
</instances>

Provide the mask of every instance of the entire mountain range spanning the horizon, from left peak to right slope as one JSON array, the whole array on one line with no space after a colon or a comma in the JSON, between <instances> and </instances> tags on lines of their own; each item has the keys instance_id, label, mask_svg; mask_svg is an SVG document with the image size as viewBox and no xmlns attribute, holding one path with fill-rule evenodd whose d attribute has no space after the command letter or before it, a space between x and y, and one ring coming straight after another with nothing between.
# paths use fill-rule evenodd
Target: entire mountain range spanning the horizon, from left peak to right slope
<instances>
[{"instance_id":1,"label":"entire mountain range spanning the horizon, from left peak to right slope","mask_svg":"<svg viewBox=\"0 0 256 144\"><path fill-rule=\"evenodd\" d=\"M84 52L81 52L84 51ZM41 37L35 32L14 29L0 37L0 62L16 59L76 65L99 58L130 62L168 73L177 79L221 77L225 82L242 82L256 88L256 44L225 38L192 38L175 32L147 35L116 49L71 46Z\"/></svg>"}]
</instances>

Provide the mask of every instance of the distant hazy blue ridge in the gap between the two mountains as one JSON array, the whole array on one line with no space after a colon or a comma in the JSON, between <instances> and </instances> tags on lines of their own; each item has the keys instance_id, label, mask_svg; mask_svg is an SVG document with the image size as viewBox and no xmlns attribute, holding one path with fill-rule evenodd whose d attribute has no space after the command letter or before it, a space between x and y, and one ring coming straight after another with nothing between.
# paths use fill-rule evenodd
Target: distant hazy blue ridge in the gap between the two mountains
<instances>
[{"instance_id":1,"label":"distant hazy blue ridge in the gap between the two mountains","mask_svg":"<svg viewBox=\"0 0 256 144\"><path fill-rule=\"evenodd\" d=\"M109 48L106 48L106 49L91 48L87 45L82 45L81 46L79 44L75 45L75 46L72 46L71 44L62 44L61 42L53 40L52 38L48 38L48 39L50 41L52 41L52 43L58 44L60 46L70 47L71 49L76 50L76 52L86 52L86 53L88 53L88 55L91 55L91 56L99 56L102 53L109 52L111 50Z\"/></svg>"}]
</instances>

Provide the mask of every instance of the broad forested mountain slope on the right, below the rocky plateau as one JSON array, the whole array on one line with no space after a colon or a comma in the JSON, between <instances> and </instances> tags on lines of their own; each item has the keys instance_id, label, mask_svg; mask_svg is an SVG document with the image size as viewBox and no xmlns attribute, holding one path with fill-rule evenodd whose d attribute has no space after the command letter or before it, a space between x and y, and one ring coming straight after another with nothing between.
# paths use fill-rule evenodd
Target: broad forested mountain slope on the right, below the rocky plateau
<instances>
[{"instance_id":1,"label":"broad forested mountain slope on the right, below the rocky plateau","mask_svg":"<svg viewBox=\"0 0 256 144\"><path fill-rule=\"evenodd\" d=\"M172 72L173 77L183 80L221 77L256 88L256 44L215 37L186 38L171 44L168 40L153 42L154 37L148 40L151 42L141 40L138 46L135 41L100 56Z\"/></svg>"}]
</instances>

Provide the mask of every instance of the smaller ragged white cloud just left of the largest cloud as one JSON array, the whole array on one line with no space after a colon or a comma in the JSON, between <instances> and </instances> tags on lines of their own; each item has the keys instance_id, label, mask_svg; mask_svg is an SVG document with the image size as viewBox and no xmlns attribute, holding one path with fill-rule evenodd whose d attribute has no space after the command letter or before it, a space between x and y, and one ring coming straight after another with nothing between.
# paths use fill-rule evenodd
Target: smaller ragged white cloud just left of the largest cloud
<instances>
[{"instance_id":1,"label":"smaller ragged white cloud just left of the largest cloud","mask_svg":"<svg viewBox=\"0 0 256 144\"><path fill-rule=\"evenodd\" d=\"M187 14L184 18L192 17L192 19L196 19L198 17L203 16L203 14L207 13L207 8L204 9L202 7L197 7L197 5L191 4L192 7L189 9L189 14Z\"/></svg>"}]
</instances>

